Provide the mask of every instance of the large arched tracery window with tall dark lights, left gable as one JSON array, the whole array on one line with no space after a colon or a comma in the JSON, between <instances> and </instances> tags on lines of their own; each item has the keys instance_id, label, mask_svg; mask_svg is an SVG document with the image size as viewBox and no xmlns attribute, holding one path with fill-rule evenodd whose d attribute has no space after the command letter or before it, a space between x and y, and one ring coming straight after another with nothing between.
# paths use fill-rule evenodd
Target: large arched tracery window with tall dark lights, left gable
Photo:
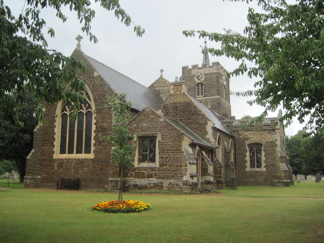
<instances>
[{"instance_id":1,"label":"large arched tracery window with tall dark lights, left gable","mask_svg":"<svg viewBox=\"0 0 324 243\"><path fill-rule=\"evenodd\" d=\"M84 92L83 92L84 93ZM92 145L93 110L88 92L84 93L85 102L72 120L73 110L65 102L61 109L60 154L90 154Z\"/></svg>"}]
</instances>

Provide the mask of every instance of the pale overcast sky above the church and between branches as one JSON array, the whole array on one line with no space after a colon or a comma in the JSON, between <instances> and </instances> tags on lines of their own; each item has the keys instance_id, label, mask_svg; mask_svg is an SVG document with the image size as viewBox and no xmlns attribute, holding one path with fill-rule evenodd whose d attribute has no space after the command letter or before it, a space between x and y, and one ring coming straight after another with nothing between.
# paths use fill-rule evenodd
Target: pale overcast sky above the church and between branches
<instances>
[{"instance_id":1,"label":"pale overcast sky above the church and between branches","mask_svg":"<svg viewBox=\"0 0 324 243\"><path fill-rule=\"evenodd\" d=\"M24 0L5 0L13 14L17 16L23 11ZM94 2L94 1L93 1ZM204 29L210 32L223 32L232 29L242 33L248 25L248 8L256 5L246 3L223 2L222 0L120 0L120 5L132 17L137 25L145 28L142 37L137 37L133 26L126 27L114 17L113 12L107 12L99 5L93 5L96 17L92 21L92 32L97 36L98 43L89 41L82 33L76 14L68 8L63 12L68 20L62 23L51 9L42 10L42 17L48 27L55 30L55 37L48 38L49 49L55 49L70 56L76 47L75 37L80 34L83 52L104 63L105 65L129 76L138 83L148 87L165 71L163 76L170 82L181 76L182 66L191 66L203 61L201 46L203 39L185 37L183 30ZM45 30L46 31L46 30ZM217 48L219 44L208 42L208 47ZM210 62L219 61L228 71L238 64L226 57L209 56ZM247 76L232 77L231 91L246 91L253 89L254 81ZM241 118L248 114L259 115L263 109L259 106L249 106L247 99L231 96L232 115ZM277 116L278 111L269 114ZM286 128L286 135L294 135L302 128L296 122Z\"/></svg>"}]
</instances>

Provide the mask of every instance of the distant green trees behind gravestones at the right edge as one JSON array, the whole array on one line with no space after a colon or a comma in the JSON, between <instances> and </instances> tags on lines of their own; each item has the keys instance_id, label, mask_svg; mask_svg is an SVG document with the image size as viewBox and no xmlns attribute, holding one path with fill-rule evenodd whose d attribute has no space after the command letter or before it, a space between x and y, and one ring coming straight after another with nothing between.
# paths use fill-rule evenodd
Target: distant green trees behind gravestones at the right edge
<instances>
[{"instance_id":1,"label":"distant green trees behind gravestones at the right edge","mask_svg":"<svg viewBox=\"0 0 324 243\"><path fill-rule=\"evenodd\" d=\"M294 174L315 175L324 172L324 135L310 136L305 131L286 137L286 152Z\"/></svg>"}]
</instances>

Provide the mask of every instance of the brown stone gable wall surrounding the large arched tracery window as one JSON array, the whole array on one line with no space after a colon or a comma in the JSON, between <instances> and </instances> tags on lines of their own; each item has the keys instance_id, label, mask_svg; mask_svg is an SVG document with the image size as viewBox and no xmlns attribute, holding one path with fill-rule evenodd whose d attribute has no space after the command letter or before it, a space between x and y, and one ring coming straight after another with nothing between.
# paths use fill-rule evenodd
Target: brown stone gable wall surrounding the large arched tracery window
<instances>
[{"instance_id":1,"label":"brown stone gable wall surrounding the large arched tracery window","mask_svg":"<svg viewBox=\"0 0 324 243\"><path fill-rule=\"evenodd\" d=\"M56 188L57 180L64 178L80 178L80 189L108 188L110 177L110 146L100 141L99 135L107 134L111 130L111 111L106 109L106 96L112 90L100 75L88 63L84 54L75 49L72 56L83 60L88 71L78 73L89 88L94 106L94 143L92 158L54 158L55 131L60 111L58 104L44 104L44 124L39 124L34 130L33 150L27 157L24 187ZM134 115L133 115L134 116ZM58 149L58 148L57 148Z\"/></svg>"}]
</instances>

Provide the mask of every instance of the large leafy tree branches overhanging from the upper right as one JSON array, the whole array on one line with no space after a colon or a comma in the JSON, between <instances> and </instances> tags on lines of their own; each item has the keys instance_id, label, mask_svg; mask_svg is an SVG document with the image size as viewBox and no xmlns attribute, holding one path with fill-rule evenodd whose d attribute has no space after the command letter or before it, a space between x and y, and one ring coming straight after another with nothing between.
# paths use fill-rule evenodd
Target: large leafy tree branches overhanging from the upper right
<instances>
[{"instance_id":1,"label":"large leafy tree branches overhanging from the upper right","mask_svg":"<svg viewBox=\"0 0 324 243\"><path fill-rule=\"evenodd\" d=\"M231 0L234 2L240 0ZM248 0L241 0L249 3ZM258 0L262 12L249 8L249 25L240 34L232 30L212 33L186 30L186 36L198 35L221 43L209 48L215 56L232 57L240 64L228 73L255 76L254 90L236 95L255 96L250 105L265 107L261 116L285 109L281 121L292 123L297 116L305 128L322 129L324 125L324 3L322 0Z\"/></svg>"}]
</instances>

